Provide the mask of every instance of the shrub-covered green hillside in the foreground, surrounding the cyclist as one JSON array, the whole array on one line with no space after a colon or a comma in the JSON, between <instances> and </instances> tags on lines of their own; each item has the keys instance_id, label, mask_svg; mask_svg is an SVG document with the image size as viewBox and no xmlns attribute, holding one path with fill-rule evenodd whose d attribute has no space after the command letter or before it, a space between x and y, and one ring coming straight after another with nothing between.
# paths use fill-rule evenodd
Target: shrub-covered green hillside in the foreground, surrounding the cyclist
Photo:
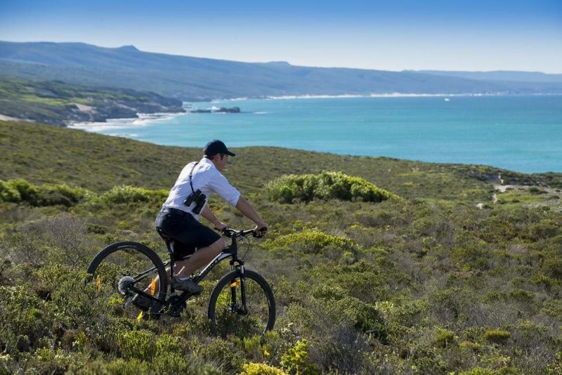
<instances>
[{"instance_id":1,"label":"shrub-covered green hillside in the foreground, surrounding the cyclist","mask_svg":"<svg viewBox=\"0 0 562 375\"><path fill-rule=\"evenodd\" d=\"M155 215L201 150L0 121L0 373L561 371L561 173L235 152L223 173L270 224L246 257L277 302L263 338L211 334L207 303L228 264L179 318L137 320L119 295L105 300L84 284L89 261L112 242L165 256ZM322 170L392 197L272 198L271 180ZM218 199L211 209L250 226Z\"/></svg>"}]
</instances>

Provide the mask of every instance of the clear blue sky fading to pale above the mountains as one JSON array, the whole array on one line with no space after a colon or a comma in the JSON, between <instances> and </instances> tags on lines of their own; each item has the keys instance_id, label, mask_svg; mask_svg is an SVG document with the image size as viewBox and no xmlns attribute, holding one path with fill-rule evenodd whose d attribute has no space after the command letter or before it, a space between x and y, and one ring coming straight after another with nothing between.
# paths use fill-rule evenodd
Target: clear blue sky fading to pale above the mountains
<instances>
[{"instance_id":1,"label":"clear blue sky fading to pale above the mountains","mask_svg":"<svg viewBox=\"0 0 562 375\"><path fill-rule=\"evenodd\" d=\"M0 40L376 70L562 73L562 0L0 0Z\"/></svg>"}]
</instances>

